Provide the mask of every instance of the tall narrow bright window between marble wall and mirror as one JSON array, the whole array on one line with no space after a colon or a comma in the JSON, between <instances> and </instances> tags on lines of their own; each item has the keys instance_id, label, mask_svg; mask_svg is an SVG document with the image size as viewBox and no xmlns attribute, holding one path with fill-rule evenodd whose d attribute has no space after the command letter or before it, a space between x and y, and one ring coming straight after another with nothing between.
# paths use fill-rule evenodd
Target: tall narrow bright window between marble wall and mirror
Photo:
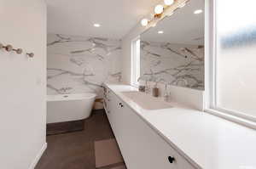
<instances>
[{"instance_id":1,"label":"tall narrow bright window between marble wall and mirror","mask_svg":"<svg viewBox=\"0 0 256 169\"><path fill-rule=\"evenodd\" d=\"M140 37L131 42L131 85L138 87L140 77Z\"/></svg>"}]
</instances>

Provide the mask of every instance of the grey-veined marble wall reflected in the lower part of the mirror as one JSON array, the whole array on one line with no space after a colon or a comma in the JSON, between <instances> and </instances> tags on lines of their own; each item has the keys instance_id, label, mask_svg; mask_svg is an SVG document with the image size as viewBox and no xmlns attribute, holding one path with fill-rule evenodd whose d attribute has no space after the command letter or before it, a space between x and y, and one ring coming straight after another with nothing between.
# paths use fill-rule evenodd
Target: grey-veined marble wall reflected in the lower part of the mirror
<instances>
[{"instance_id":1,"label":"grey-veined marble wall reflected in the lower part of the mirror","mask_svg":"<svg viewBox=\"0 0 256 169\"><path fill-rule=\"evenodd\" d=\"M204 47L141 41L141 76L150 82L204 89Z\"/></svg>"}]
</instances>

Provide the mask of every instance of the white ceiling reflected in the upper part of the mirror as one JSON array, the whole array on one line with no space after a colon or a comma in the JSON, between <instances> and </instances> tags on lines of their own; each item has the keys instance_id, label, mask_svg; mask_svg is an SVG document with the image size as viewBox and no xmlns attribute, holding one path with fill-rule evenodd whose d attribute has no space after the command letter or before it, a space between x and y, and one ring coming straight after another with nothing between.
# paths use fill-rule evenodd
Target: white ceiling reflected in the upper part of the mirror
<instances>
[{"instance_id":1,"label":"white ceiling reflected in the upper part of the mirror","mask_svg":"<svg viewBox=\"0 0 256 169\"><path fill-rule=\"evenodd\" d=\"M204 0L190 0L185 7L143 33L142 40L203 45L204 13L194 14L196 9L204 9ZM164 34L158 34L158 31L164 31Z\"/></svg>"}]
</instances>

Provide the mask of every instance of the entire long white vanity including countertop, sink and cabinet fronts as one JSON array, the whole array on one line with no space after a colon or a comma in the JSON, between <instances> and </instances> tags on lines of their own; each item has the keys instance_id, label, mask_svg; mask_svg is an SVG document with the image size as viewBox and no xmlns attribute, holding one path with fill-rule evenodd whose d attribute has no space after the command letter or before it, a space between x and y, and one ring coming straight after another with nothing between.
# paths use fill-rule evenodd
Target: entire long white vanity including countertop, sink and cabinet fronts
<instances>
[{"instance_id":1,"label":"entire long white vanity including countertop, sink and cabinet fronts","mask_svg":"<svg viewBox=\"0 0 256 169\"><path fill-rule=\"evenodd\" d=\"M124 84L105 84L104 107L128 169L256 166L256 134L246 127Z\"/></svg>"}]
</instances>

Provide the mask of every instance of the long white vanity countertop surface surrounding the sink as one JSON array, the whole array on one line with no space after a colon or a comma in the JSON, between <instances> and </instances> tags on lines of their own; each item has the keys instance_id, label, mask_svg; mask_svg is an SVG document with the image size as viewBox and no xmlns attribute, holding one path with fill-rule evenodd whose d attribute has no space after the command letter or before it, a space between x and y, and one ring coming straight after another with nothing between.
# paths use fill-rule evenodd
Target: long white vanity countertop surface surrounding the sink
<instances>
[{"instance_id":1,"label":"long white vanity countertop surface surrounding the sink","mask_svg":"<svg viewBox=\"0 0 256 169\"><path fill-rule=\"evenodd\" d=\"M256 169L256 131L181 104L165 110L144 110L121 92L124 84L106 84L119 99L187 160L203 169Z\"/></svg>"}]
</instances>

